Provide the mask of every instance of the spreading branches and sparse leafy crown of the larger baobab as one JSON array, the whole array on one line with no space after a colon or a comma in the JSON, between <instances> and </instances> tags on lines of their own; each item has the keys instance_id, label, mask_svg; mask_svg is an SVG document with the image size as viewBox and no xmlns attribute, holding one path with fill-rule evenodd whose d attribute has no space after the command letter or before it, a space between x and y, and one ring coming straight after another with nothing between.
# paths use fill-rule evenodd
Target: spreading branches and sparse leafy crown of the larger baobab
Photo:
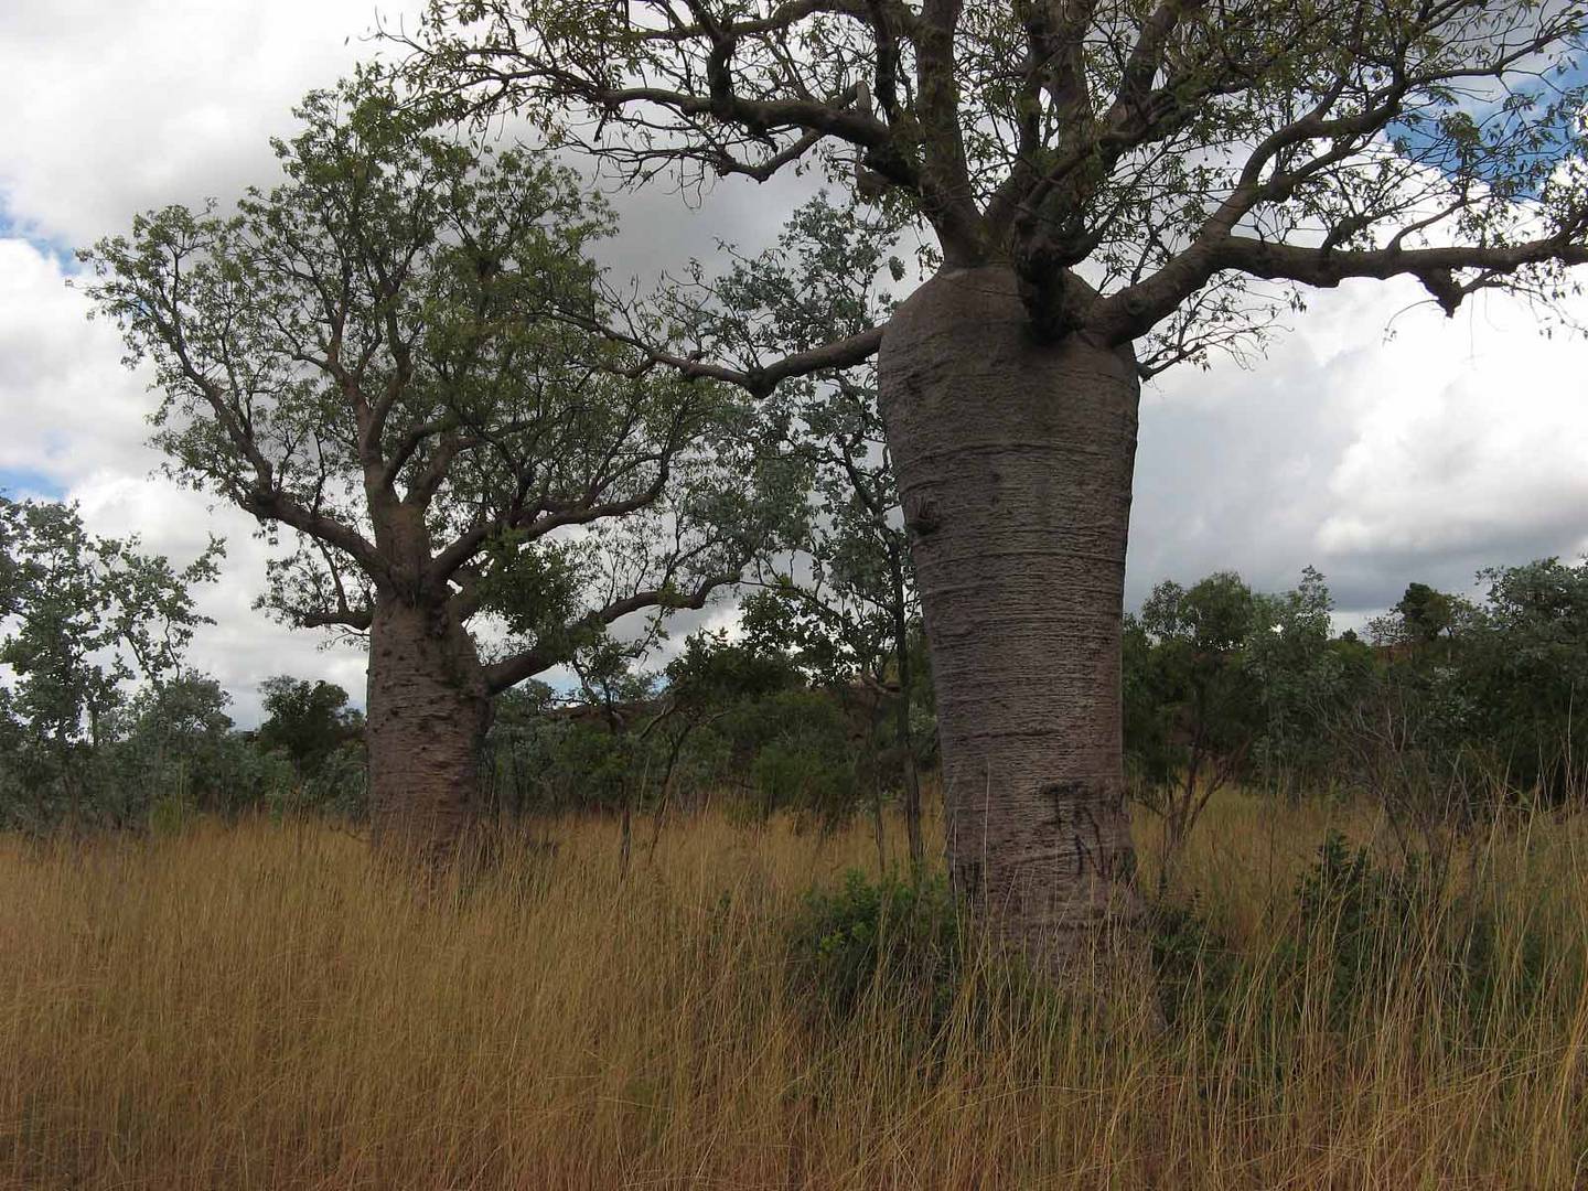
<instances>
[{"instance_id":1,"label":"spreading branches and sparse leafy crown of the larger baobab","mask_svg":"<svg viewBox=\"0 0 1588 1191\"><path fill-rule=\"evenodd\" d=\"M929 224L946 264L1012 264L1040 330L1150 335L1150 375L1243 349L1296 286L1409 275L1448 311L1491 286L1559 297L1588 259L1585 13L434 0L405 41L437 92L527 113L627 179L819 165Z\"/></svg>"}]
</instances>

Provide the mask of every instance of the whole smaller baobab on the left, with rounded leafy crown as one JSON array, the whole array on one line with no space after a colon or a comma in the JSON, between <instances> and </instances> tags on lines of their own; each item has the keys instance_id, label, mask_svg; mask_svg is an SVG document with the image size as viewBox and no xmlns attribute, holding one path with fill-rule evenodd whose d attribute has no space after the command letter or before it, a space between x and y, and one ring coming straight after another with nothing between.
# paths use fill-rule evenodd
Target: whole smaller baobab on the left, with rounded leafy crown
<instances>
[{"instance_id":1,"label":"whole smaller baobab on the left, with rounded leafy crown","mask_svg":"<svg viewBox=\"0 0 1588 1191\"><path fill-rule=\"evenodd\" d=\"M607 208L408 98L368 71L313 92L278 186L84 256L175 473L295 537L262 602L368 634L375 842L434 858L492 697L630 613L702 607L769 505L742 394L545 318L591 300Z\"/></svg>"}]
</instances>

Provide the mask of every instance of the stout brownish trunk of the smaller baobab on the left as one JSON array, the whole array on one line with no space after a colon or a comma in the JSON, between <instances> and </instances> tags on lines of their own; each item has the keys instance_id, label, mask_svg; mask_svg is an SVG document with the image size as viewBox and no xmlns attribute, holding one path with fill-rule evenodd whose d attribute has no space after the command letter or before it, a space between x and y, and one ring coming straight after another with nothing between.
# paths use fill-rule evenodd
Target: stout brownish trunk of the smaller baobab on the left
<instances>
[{"instance_id":1,"label":"stout brownish trunk of the smaller baobab on the left","mask_svg":"<svg viewBox=\"0 0 1588 1191\"><path fill-rule=\"evenodd\" d=\"M370 626L370 813L376 851L445 862L472 826L491 696L445 608L383 600Z\"/></svg>"}]
</instances>

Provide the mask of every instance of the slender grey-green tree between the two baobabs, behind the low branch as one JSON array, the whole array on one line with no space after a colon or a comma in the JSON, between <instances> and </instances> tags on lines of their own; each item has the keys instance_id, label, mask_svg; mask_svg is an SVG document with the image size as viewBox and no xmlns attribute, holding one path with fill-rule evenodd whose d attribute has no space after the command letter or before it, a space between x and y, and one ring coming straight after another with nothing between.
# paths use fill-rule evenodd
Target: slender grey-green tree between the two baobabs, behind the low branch
<instances>
[{"instance_id":1,"label":"slender grey-green tree between the two baobabs, behind the low branch","mask_svg":"<svg viewBox=\"0 0 1588 1191\"><path fill-rule=\"evenodd\" d=\"M888 256L883 230L821 195L796 213L775 248L716 283L724 310L716 333L788 354L864 332L891 306L877 287L883 268L894 276L902 270ZM737 330L729 330L730 319ZM921 607L877 405L877 370L862 364L794 378L769 407L792 456L810 468L813 502L797 532L778 543L780 553L761 557L765 596L746 603L745 624L767 640L780 637L818 681L858 696L873 745L883 730L878 716L891 710L889 751L899 765L910 861L921 865L926 843L912 721L924 670L913 648ZM872 757L873 769L878 761Z\"/></svg>"}]
</instances>

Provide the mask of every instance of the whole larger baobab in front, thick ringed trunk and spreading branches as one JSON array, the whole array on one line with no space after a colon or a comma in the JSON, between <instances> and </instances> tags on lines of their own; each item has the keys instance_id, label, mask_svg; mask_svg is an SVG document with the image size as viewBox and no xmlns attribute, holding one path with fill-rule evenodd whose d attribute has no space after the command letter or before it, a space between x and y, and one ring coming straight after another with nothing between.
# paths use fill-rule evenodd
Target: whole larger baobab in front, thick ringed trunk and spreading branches
<instances>
[{"instance_id":1,"label":"whole larger baobab in front, thick ringed trunk and spreading branches","mask_svg":"<svg viewBox=\"0 0 1588 1191\"><path fill-rule=\"evenodd\" d=\"M1120 624L1139 387L1309 286L1551 303L1588 259L1577 0L434 0L414 68L632 181L826 168L927 229L878 353L961 891L1061 959L1134 913Z\"/></svg>"}]
</instances>

